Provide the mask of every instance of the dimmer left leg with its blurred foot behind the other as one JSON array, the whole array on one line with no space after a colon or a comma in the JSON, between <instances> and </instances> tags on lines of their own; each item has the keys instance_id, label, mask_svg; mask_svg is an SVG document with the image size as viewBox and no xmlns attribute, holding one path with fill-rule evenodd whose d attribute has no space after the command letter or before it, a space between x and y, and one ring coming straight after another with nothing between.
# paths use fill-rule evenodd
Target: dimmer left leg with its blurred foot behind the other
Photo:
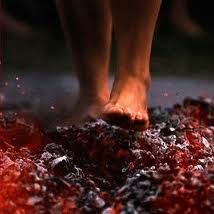
<instances>
[{"instance_id":1,"label":"dimmer left leg with its blurred foot behind the other","mask_svg":"<svg viewBox=\"0 0 214 214\"><path fill-rule=\"evenodd\" d=\"M80 100L75 109L83 117L98 114L109 98L112 22L108 0L56 0L56 3L80 85Z\"/></svg>"}]
</instances>

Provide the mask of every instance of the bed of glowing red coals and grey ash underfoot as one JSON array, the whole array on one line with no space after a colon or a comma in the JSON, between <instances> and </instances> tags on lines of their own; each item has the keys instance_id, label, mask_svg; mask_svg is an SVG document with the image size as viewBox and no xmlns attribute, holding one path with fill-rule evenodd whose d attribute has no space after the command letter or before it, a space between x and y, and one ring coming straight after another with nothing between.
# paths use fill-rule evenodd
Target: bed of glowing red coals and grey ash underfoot
<instances>
[{"instance_id":1,"label":"bed of glowing red coals and grey ash underfoot","mask_svg":"<svg viewBox=\"0 0 214 214\"><path fill-rule=\"evenodd\" d=\"M0 214L214 213L214 100L151 108L150 121L45 131L2 112Z\"/></svg>"}]
</instances>

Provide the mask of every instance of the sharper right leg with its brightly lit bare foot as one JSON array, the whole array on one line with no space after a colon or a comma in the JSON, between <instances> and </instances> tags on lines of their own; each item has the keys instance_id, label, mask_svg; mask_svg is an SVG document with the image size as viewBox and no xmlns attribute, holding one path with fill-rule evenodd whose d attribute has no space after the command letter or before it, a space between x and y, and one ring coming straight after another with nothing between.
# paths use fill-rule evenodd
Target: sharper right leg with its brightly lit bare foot
<instances>
[{"instance_id":1,"label":"sharper right leg with its brightly lit bare foot","mask_svg":"<svg viewBox=\"0 0 214 214\"><path fill-rule=\"evenodd\" d=\"M105 114L148 125L150 52L161 0L112 0L117 71Z\"/></svg>"}]
</instances>

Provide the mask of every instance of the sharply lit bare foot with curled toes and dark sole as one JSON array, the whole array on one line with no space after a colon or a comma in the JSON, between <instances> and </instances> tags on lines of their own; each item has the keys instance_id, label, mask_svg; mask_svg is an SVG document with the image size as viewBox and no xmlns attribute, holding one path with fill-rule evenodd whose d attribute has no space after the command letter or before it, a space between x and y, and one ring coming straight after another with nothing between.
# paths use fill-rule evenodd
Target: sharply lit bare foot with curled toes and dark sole
<instances>
[{"instance_id":1,"label":"sharply lit bare foot with curled toes and dark sole","mask_svg":"<svg viewBox=\"0 0 214 214\"><path fill-rule=\"evenodd\" d=\"M138 78L116 81L103 110L104 119L125 128L148 128L147 89L148 84Z\"/></svg>"}]
</instances>

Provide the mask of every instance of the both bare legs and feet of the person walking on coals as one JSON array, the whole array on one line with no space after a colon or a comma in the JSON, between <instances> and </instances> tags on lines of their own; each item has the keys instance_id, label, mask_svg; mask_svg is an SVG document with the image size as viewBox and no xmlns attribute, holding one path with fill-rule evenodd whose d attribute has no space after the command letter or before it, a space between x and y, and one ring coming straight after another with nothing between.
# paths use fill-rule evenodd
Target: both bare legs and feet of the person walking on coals
<instances>
[{"instance_id":1,"label":"both bare legs and feet of the person walking on coals","mask_svg":"<svg viewBox=\"0 0 214 214\"><path fill-rule=\"evenodd\" d=\"M82 115L82 120L102 117L121 126L147 128L150 53L161 0L56 2L80 83L76 115ZM117 69L110 94L112 26Z\"/></svg>"}]
</instances>

